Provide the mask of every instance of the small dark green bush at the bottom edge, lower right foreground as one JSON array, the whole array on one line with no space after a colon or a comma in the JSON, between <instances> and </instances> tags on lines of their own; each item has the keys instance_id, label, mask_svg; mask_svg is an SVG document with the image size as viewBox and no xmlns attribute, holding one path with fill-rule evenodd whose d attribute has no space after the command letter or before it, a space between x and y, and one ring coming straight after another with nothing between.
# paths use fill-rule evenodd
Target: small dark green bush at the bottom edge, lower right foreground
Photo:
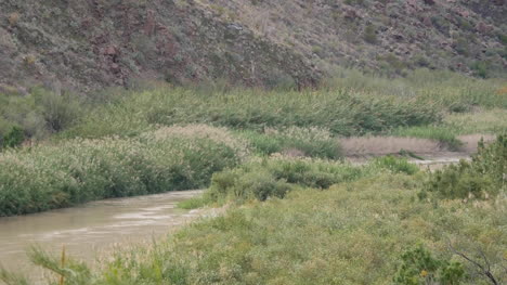
<instances>
[{"instance_id":1,"label":"small dark green bush at the bottom edge, lower right foreground","mask_svg":"<svg viewBox=\"0 0 507 285\"><path fill-rule=\"evenodd\" d=\"M458 285L465 275L461 263L437 259L422 245L405 251L401 260L394 276L394 283L400 285Z\"/></svg>"}]
</instances>

